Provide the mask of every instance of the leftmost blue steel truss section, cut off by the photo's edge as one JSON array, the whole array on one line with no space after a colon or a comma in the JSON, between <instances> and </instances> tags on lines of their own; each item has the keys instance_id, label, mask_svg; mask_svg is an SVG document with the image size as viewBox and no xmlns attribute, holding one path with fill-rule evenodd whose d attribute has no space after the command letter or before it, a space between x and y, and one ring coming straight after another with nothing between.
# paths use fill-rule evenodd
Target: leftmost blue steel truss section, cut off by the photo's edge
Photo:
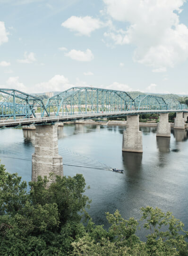
<instances>
[{"instance_id":1,"label":"leftmost blue steel truss section, cut off by the photo's edge","mask_svg":"<svg viewBox=\"0 0 188 256\"><path fill-rule=\"evenodd\" d=\"M0 118L36 117L36 112L49 116L40 98L14 89L0 89Z\"/></svg>"}]
</instances>

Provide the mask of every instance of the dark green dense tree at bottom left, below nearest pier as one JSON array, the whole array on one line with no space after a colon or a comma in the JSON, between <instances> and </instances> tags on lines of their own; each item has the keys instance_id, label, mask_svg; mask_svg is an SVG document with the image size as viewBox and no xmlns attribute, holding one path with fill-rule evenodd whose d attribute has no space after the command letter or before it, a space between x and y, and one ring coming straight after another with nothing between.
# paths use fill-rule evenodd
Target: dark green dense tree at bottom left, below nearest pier
<instances>
[{"instance_id":1,"label":"dark green dense tree at bottom left, below nearest pier","mask_svg":"<svg viewBox=\"0 0 188 256\"><path fill-rule=\"evenodd\" d=\"M0 165L0 255L64 256L85 234L84 177L57 176L48 189L47 182L39 176L26 192L26 182Z\"/></svg>"}]
</instances>

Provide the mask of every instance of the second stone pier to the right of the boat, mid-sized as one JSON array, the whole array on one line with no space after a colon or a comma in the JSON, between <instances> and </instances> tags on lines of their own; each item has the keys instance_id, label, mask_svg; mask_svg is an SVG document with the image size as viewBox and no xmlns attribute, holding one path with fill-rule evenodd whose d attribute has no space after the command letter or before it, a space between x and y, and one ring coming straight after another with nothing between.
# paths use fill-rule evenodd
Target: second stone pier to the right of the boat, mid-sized
<instances>
[{"instance_id":1,"label":"second stone pier to the right of the boat, mid-sized","mask_svg":"<svg viewBox=\"0 0 188 256\"><path fill-rule=\"evenodd\" d=\"M159 123L157 124L157 137L171 137L171 124L169 123L169 114L161 113Z\"/></svg>"}]
</instances>

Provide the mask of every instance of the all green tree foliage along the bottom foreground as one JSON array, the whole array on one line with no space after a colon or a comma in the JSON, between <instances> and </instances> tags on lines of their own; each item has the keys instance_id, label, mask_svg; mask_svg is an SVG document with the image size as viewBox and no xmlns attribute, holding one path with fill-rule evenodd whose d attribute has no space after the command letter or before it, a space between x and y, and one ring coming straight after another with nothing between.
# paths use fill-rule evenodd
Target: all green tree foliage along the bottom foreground
<instances>
[{"instance_id":1,"label":"all green tree foliage along the bottom foreground","mask_svg":"<svg viewBox=\"0 0 188 256\"><path fill-rule=\"evenodd\" d=\"M85 211L85 179L38 177L27 183L0 165L0 255L2 256L187 256L188 232L171 212L147 206L141 219L106 213L110 228L95 225ZM85 220L85 222L84 222ZM146 230L145 241L137 230Z\"/></svg>"}]
</instances>

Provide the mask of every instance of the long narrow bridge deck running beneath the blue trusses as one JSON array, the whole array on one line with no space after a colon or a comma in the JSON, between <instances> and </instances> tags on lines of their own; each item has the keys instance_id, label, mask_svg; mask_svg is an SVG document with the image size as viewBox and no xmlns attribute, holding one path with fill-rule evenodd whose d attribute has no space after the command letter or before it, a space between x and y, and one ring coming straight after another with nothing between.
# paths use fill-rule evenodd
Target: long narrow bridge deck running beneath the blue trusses
<instances>
[{"instance_id":1,"label":"long narrow bridge deck running beneath the blue trusses","mask_svg":"<svg viewBox=\"0 0 188 256\"><path fill-rule=\"evenodd\" d=\"M171 113L171 112L187 112L188 110L131 110L131 111L119 111L119 112L99 112L99 113L87 113L87 114L76 114L66 116L53 116L53 117L40 117L40 118L27 118L27 119L8 119L0 120L0 128L10 128L17 126L27 125L43 125L55 122L67 122L75 121L79 119L95 119L95 118L109 118L109 117L120 117L125 115L139 115L139 114L151 114L151 113Z\"/></svg>"}]
</instances>

